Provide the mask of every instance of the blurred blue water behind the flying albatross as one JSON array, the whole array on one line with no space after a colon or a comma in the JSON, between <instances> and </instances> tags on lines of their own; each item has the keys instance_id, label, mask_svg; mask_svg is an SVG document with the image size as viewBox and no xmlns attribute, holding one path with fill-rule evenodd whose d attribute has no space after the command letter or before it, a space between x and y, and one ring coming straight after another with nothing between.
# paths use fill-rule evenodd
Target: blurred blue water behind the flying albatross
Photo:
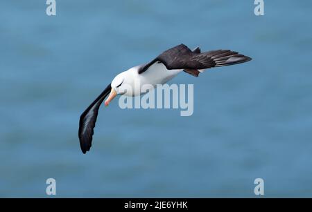
<instances>
[{"instance_id":1,"label":"blurred blue water behind the flying albatross","mask_svg":"<svg viewBox=\"0 0 312 212\"><path fill-rule=\"evenodd\" d=\"M0 2L0 196L312 197L311 1ZM92 151L80 113L123 70L184 43L247 64L181 74L194 113L101 108Z\"/></svg>"}]
</instances>

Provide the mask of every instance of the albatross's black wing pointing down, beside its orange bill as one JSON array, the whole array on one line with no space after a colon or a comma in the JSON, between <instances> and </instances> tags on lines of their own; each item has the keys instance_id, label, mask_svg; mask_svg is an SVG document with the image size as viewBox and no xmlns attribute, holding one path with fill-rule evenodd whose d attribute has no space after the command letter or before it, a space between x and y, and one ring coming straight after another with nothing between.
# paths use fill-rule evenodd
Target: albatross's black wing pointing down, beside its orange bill
<instances>
[{"instance_id":1,"label":"albatross's black wing pointing down, beside its orange bill","mask_svg":"<svg viewBox=\"0 0 312 212\"><path fill-rule=\"evenodd\" d=\"M98 108L110 93L112 87L110 84L103 90L92 104L80 115L78 136L80 140L81 151L85 154L92 146L92 135L95 127L96 117L98 117Z\"/></svg>"}]
</instances>

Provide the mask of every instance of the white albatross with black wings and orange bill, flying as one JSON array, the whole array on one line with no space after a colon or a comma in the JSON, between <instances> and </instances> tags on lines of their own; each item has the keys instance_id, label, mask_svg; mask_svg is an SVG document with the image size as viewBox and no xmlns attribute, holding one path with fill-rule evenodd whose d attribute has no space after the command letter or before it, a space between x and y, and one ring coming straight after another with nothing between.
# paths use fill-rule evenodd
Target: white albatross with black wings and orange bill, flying
<instances>
[{"instance_id":1,"label":"white albatross with black wings and orange bill, flying","mask_svg":"<svg viewBox=\"0 0 312 212\"><path fill-rule=\"evenodd\" d=\"M141 93L140 87L135 86L135 83L139 83L139 85L150 84L155 87L157 84L165 84L182 71L198 77L199 73L207 68L241 64L250 60L250 57L231 50L201 52L200 48L190 50L184 44L180 44L164 51L148 64L135 66L116 75L112 83L80 116L78 136L81 150L85 154L91 148L98 108L107 95L105 106L108 106L116 95L136 96L144 94ZM125 89L129 86L132 90Z\"/></svg>"}]
</instances>

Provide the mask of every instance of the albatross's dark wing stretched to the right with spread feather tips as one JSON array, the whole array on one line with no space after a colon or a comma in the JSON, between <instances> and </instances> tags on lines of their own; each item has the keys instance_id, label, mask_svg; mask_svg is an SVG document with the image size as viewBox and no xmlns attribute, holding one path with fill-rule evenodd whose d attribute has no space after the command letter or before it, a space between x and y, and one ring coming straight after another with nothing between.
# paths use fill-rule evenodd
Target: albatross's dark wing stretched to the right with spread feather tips
<instances>
[{"instance_id":1,"label":"albatross's dark wing stretched to the right with spread feather tips","mask_svg":"<svg viewBox=\"0 0 312 212\"><path fill-rule=\"evenodd\" d=\"M163 52L150 63L139 69L139 74L144 73L155 62L162 62L168 70L189 69L198 70L220 66L229 66L241 64L250 61L251 58L241 55L231 50L213 50L209 52L200 52L200 50L191 51L184 44L175 46Z\"/></svg>"}]
</instances>

